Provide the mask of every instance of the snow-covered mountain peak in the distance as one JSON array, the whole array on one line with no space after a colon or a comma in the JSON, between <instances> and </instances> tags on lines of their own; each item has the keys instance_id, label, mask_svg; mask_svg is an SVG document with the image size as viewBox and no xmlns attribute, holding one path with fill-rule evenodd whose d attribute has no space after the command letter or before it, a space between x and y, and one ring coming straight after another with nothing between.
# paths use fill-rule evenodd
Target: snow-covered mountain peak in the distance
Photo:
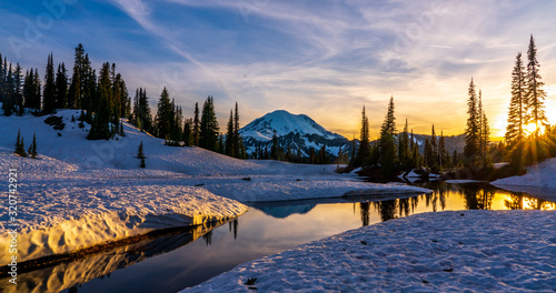
<instances>
[{"instance_id":1,"label":"snow-covered mountain peak in the distance","mask_svg":"<svg viewBox=\"0 0 556 293\"><path fill-rule=\"evenodd\" d=\"M326 130L308 115L296 115L285 110L277 110L254 120L239 130L239 133L244 138L247 153L251 154L257 146L269 148L275 131L284 150L288 146L292 151L299 149L302 156L309 155L310 148L318 151L322 145L326 145L332 156L337 156L340 150L349 149L348 139Z\"/></svg>"}]
</instances>

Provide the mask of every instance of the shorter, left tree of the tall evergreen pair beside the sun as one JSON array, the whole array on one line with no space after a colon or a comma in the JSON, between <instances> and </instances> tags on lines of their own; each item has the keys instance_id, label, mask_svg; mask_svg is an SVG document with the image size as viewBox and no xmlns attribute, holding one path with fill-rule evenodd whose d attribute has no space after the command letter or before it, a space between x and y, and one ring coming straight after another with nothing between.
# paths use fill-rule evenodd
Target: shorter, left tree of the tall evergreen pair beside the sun
<instances>
[{"instance_id":1,"label":"shorter, left tree of the tall evergreen pair beside the sun","mask_svg":"<svg viewBox=\"0 0 556 293\"><path fill-rule=\"evenodd\" d=\"M508 125L506 128L506 146L508 148L510 161L522 169L523 148L525 139L525 117L527 83L525 80L525 68L522 53L517 53L514 70L512 72L512 100L508 109Z\"/></svg>"}]
</instances>

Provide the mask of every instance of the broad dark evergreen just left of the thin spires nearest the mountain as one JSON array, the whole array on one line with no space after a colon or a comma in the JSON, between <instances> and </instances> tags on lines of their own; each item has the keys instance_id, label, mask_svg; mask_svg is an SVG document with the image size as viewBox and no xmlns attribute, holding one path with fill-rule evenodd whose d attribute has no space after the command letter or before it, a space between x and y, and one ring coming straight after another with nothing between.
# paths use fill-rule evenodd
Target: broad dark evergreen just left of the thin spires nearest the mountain
<instances>
[{"instance_id":1,"label":"broad dark evergreen just left of the thin spires nearest the mountain","mask_svg":"<svg viewBox=\"0 0 556 293\"><path fill-rule=\"evenodd\" d=\"M201 121L199 124L199 146L209 151L216 151L218 145L218 133L219 128L215 113L215 103L212 97L209 95L202 105Z\"/></svg>"}]
</instances>

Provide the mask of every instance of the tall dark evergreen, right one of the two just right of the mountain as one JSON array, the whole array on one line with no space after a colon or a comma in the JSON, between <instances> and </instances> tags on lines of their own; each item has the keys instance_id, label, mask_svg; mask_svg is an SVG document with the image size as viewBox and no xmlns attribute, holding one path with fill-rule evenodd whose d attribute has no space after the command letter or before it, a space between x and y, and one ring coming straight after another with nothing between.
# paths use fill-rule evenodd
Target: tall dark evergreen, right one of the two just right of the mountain
<instances>
[{"instance_id":1,"label":"tall dark evergreen, right one of the two just right of the mountain","mask_svg":"<svg viewBox=\"0 0 556 293\"><path fill-rule=\"evenodd\" d=\"M379 153L380 166L386 178L393 178L396 171L396 118L394 117L394 97L388 103L388 112L380 129Z\"/></svg>"}]
</instances>

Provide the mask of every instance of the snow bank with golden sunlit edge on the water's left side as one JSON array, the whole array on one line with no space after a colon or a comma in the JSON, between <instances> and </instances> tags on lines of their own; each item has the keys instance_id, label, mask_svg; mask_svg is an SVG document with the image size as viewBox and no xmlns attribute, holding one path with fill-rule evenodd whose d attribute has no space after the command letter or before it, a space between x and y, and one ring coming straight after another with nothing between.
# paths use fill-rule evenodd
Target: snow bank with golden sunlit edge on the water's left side
<instances>
[{"instance_id":1,"label":"snow bank with golden sunlit edge on the water's left side","mask_svg":"<svg viewBox=\"0 0 556 293\"><path fill-rule=\"evenodd\" d=\"M46 185L19 188L18 262L75 252L158 229L225 221L245 213L239 202L205 189L173 185ZM0 246L9 245L8 215ZM1 265L9 263L0 251Z\"/></svg>"}]
</instances>

